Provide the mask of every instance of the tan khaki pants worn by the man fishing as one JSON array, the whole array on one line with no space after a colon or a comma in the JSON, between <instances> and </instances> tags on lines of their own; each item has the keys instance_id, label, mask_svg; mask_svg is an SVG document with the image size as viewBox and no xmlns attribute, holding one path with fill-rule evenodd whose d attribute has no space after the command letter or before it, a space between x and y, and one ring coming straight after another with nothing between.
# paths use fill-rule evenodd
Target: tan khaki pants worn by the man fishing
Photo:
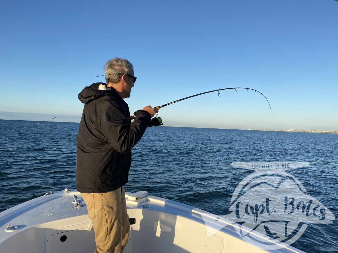
<instances>
[{"instance_id":1,"label":"tan khaki pants worn by the man fishing","mask_svg":"<svg viewBox=\"0 0 338 253\"><path fill-rule=\"evenodd\" d=\"M81 193L95 231L94 253L120 253L128 241L129 219L124 187L105 193Z\"/></svg>"}]
</instances>

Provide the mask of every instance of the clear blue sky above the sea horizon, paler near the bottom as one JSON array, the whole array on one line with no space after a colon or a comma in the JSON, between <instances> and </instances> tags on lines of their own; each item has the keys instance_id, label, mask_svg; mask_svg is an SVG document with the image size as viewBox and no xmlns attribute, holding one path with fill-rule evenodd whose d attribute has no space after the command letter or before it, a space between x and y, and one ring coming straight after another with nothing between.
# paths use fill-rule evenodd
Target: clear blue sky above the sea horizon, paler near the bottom
<instances>
[{"instance_id":1,"label":"clear blue sky above the sea horizon, paler near the bottom","mask_svg":"<svg viewBox=\"0 0 338 253\"><path fill-rule=\"evenodd\" d=\"M118 56L138 78L131 112L236 86L271 104L210 93L161 109L167 126L338 130L334 0L3 0L0 24L3 119L79 122L77 94Z\"/></svg>"}]
</instances>

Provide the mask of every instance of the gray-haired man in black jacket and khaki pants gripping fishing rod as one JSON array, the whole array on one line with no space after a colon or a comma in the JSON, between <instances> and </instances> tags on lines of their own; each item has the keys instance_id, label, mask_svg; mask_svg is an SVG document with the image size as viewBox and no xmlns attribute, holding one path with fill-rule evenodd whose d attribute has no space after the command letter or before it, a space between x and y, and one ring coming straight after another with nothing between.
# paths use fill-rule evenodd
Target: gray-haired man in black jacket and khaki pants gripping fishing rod
<instances>
[{"instance_id":1,"label":"gray-haired man in black jacket and khaki pants gripping fishing rod","mask_svg":"<svg viewBox=\"0 0 338 253\"><path fill-rule=\"evenodd\" d=\"M122 252L129 233L124 185L128 181L131 148L141 139L158 110L146 106L130 123L127 103L136 77L132 64L107 61L106 83L94 83L79 94L84 104L77 134L76 188L87 205L95 231L96 251Z\"/></svg>"}]
</instances>

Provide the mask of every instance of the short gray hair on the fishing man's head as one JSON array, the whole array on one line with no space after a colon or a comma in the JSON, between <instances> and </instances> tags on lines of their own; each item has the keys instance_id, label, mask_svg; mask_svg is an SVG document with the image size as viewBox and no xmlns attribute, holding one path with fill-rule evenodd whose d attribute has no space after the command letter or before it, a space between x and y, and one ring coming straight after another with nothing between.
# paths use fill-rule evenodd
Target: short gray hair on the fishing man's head
<instances>
[{"instance_id":1,"label":"short gray hair on the fishing man's head","mask_svg":"<svg viewBox=\"0 0 338 253\"><path fill-rule=\"evenodd\" d=\"M134 67L127 59L121 59L115 57L114 59L108 60L104 66L104 73L106 83L118 83L121 80L122 75L134 75Z\"/></svg>"}]
</instances>

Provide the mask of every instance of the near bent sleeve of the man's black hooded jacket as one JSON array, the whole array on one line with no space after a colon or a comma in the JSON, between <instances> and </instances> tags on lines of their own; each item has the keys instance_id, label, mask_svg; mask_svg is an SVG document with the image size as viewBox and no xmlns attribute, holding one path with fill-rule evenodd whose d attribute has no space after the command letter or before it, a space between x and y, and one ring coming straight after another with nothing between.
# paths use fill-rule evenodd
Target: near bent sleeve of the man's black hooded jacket
<instances>
[{"instance_id":1,"label":"near bent sleeve of the man's black hooded jacket","mask_svg":"<svg viewBox=\"0 0 338 253\"><path fill-rule=\"evenodd\" d=\"M114 101L103 101L98 112L100 128L108 143L123 154L131 151L138 143L148 127L150 114L138 110L133 122L128 122L122 113L122 108Z\"/></svg>"}]
</instances>

